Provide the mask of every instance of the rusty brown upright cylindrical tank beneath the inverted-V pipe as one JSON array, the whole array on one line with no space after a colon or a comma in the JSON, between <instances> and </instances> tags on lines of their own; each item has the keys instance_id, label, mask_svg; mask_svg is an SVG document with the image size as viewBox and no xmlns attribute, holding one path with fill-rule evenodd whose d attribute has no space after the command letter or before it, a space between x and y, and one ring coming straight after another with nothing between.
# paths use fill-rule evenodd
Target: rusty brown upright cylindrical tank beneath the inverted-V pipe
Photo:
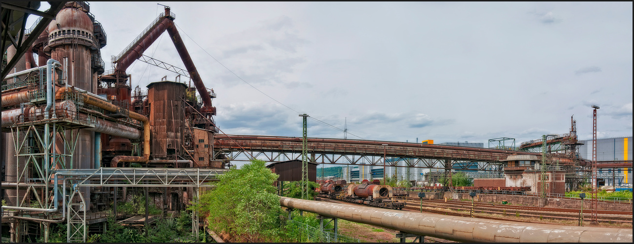
<instances>
[{"instance_id":1,"label":"rusty brown upright cylindrical tank beneath the inverted-V pipe","mask_svg":"<svg viewBox=\"0 0 634 244\"><path fill-rule=\"evenodd\" d=\"M172 81L152 82L148 86L150 108L151 157L176 158L183 149L184 105L187 86Z\"/></svg>"}]
</instances>

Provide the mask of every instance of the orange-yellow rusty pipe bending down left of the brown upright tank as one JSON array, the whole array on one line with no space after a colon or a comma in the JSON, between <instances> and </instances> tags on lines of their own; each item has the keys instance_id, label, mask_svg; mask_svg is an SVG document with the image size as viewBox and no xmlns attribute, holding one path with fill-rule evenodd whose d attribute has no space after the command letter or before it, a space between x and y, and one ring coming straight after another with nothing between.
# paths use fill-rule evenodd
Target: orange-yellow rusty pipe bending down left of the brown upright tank
<instances>
[{"instance_id":1,"label":"orange-yellow rusty pipe bending down left of the brown upright tank","mask_svg":"<svg viewBox=\"0 0 634 244\"><path fill-rule=\"evenodd\" d=\"M55 100L63 99L63 93L72 91L72 87L61 87L55 93ZM113 105L112 103L108 103L107 101L103 101L100 98L93 98L93 96L86 95L83 93L78 93L81 96L84 103L96 106L98 108L103 108L104 110L108 110L110 112L117 112L119 106ZM150 120L148 117L145 117L139 113L129 112L129 117L138 121L143 122L143 156L134 157L134 156L116 156L112 158L110 161L111 167L117 167L119 162L136 162L136 163L147 163L150 159ZM105 134L110 134L108 132L103 132Z\"/></svg>"}]
</instances>

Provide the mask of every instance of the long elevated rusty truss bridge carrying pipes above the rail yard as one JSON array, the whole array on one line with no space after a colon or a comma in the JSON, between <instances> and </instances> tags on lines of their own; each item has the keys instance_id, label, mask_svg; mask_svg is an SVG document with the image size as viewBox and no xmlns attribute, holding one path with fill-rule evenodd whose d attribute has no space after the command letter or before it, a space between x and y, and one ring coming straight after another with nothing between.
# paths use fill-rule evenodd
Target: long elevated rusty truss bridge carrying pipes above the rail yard
<instances>
[{"instance_id":1,"label":"long elevated rusty truss bridge carrying pipes above the rail yard","mask_svg":"<svg viewBox=\"0 0 634 244\"><path fill-rule=\"evenodd\" d=\"M500 171L500 160L507 159L511 154L536 155L541 158L541 153L530 151L394 141L308 138L307 144L311 154L310 162L316 164L365 164L424 169ZM302 138L216 135L213 146L215 158L224 155L228 160L234 161L248 161L255 158L266 162L281 162L301 160ZM404 165L397 165L399 162L404 162Z\"/></svg>"}]
</instances>

